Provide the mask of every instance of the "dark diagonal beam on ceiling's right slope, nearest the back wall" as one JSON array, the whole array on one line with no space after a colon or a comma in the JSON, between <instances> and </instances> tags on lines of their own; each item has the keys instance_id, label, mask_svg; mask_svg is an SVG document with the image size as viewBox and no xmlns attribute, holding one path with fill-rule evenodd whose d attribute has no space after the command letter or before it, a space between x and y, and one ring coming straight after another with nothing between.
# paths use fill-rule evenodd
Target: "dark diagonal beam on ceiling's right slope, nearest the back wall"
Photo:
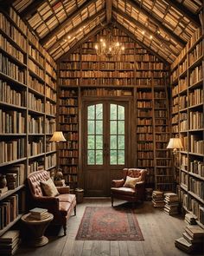
<instances>
[{"instance_id":1,"label":"dark diagonal beam on ceiling's right slope, nearest the back wall","mask_svg":"<svg viewBox=\"0 0 204 256\"><path fill-rule=\"evenodd\" d=\"M173 51L172 49L169 48L169 44L170 44L169 41L165 40L165 39L163 38L163 36L160 36L160 35L159 35L158 33L156 33L156 32L152 32L148 27L145 27L142 23L137 22L137 20L136 20L135 18L133 18L132 16L130 16L130 15L126 14L126 13L124 13L122 10L118 10L118 9L116 9L115 7L113 7L112 10L113 10L114 12L116 12L116 14L122 16L122 17L123 17L124 19L126 19L127 21L129 21L129 22L135 24L135 26L138 27L140 30L144 30L144 31L148 32L149 35L154 35L154 37L155 37L158 41L160 41L161 43L164 43L164 44L165 44L165 47L166 47L167 49L169 49L171 52ZM173 54L174 54L175 56L178 55L178 54L175 53L175 52L173 52Z\"/></svg>"}]
</instances>

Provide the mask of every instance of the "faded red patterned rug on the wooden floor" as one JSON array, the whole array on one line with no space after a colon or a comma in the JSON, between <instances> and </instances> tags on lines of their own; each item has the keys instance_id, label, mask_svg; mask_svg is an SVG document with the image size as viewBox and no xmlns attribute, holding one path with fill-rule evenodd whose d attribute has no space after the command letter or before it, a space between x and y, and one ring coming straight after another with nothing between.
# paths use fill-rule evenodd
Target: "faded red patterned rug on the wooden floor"
<instances>
[{"instance_id":1,"label":"faded red patterned rug on the wooden floor","mask_svg":"<svg viewBox=\"0 0 204 256\"><path fill-rule=\"evenodd\" d=\"M131 208L86 207L76 240L143 240Z\"/></svg>"}]
</instances>

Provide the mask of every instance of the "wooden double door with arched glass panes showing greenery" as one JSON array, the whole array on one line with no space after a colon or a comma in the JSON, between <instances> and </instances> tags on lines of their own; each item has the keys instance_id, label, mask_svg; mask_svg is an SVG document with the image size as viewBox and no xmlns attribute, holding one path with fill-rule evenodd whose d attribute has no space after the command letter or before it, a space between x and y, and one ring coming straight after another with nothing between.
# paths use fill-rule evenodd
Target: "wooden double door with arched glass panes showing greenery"
<instances>
[{"instance_id":1,"label":"wooden double door with arched glass panes showing greenery","mask_svg":"<svg viewBox=\"0 0 204 256\"><path fill-rule=\"evenodd\" d=\"M109 196L128 161L128 102L84 102L83 113L85 195Z\"/></svg>"}]
</instances>

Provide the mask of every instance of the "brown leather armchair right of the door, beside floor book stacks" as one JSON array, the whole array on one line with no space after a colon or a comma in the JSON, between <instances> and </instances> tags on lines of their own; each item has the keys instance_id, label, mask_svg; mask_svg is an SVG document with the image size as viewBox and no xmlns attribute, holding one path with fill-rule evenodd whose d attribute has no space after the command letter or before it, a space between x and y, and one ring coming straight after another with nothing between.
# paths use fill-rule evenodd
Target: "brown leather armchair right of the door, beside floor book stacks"
<instances>
[{"instance_id":1,"label":"brown leather armchair right of the door, beside floor book stacks","mask_svg":"<svg viewBox=\"0 0 204 256\"><path fill-rule=\"evenodd\" d=\"M113 199L118 198L121 200L128 200L131 202L136 202L137 200L144 200L145 196L145 177L147 174L146 169L139 168L124 168L123 169L123 179L112 180L111 187L111 197L112 197L112 207ZM139 178L134 188L124 187L127 176L131 178Z\"/></svg>"}]
</instances>

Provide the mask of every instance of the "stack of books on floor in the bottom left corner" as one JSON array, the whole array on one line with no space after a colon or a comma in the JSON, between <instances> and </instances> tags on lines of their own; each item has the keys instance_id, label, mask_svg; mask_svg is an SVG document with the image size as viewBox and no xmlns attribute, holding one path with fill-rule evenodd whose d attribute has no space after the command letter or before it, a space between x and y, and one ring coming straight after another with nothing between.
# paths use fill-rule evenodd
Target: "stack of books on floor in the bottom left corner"
<instances>
[{"instance_id":1,"label":"stack of books on floor in the bottom left corner","mask_svg":"<svg viewBox=\"0 0 204 256\"><path fill-rule=\"evenodd\" d=\"M19 230L10 230L0 237L0 255L13 255L20 245Z\"/></svg>"}]
</instances>

